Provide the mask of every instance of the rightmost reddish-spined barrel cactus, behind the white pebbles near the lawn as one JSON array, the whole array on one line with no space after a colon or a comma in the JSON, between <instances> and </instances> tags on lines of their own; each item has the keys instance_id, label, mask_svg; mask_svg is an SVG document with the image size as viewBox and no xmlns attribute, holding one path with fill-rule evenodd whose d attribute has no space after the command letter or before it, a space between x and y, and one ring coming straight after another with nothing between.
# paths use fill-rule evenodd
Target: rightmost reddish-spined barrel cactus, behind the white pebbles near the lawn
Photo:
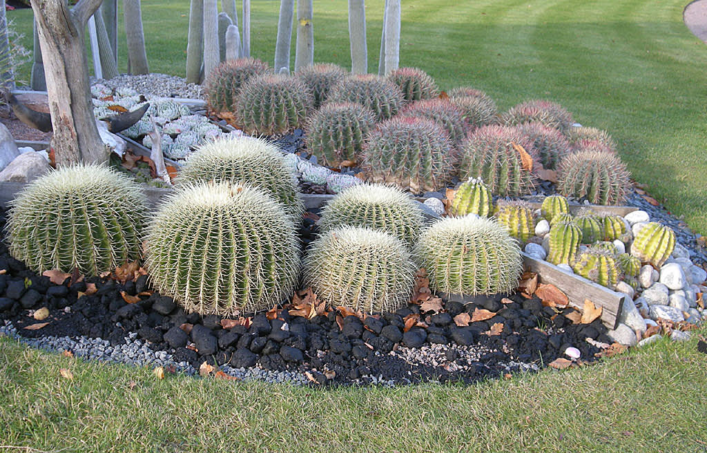
<instances>
[{"instance_id":1,"label":"rightmost reddish-spined barrel cactus, behind the white pebbles near the lawn","mask_svg":"<svg viewBox=\"0 0 707 453\"><path fill-rule=\"evenodd\" d=\"M559 192L593 204L621 204L629 189L629 170L614 153L580 151L566 155L558 170Z\"/></svg>"}]
</instances>

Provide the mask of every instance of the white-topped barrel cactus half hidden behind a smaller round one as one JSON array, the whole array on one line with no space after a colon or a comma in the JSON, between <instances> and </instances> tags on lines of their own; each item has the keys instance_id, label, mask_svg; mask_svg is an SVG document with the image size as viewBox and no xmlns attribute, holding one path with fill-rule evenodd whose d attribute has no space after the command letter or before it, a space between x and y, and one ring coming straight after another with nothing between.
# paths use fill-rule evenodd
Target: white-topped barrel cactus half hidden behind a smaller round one
<instances>
[{"instance_id":1,"label":"white-topped barrel cactus half hidden behind a smaller round one","mask_svg":"<svg viewBox=\"0 0 707 453\"><path fill-rule=\"evenodd\" d=\"M341 225L382 230L413 245L423 222L416 201L396 187L358 184L334 196L322 210L320 228Z\"/></svg>"}]
</instances>

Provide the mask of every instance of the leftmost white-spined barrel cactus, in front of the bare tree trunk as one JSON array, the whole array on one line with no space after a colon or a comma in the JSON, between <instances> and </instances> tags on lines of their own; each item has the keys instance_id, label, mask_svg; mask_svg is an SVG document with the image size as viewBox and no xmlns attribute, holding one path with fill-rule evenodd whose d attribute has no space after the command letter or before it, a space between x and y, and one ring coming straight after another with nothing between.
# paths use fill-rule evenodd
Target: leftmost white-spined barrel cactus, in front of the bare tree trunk
<instances>
[{"instance_id":1,"label":"leftmost white-spined barrel cactus, in front of the bare tree trunk","mask_svg":"<svg viewBox=\"0 0 707 453\"><path fill-rule=\"evenodd\" d=\"M37 273L112 271L141 256L145 202L138 184L101 165L49 172L11 201L10 254Z\"/></svg>"}]
</instances>

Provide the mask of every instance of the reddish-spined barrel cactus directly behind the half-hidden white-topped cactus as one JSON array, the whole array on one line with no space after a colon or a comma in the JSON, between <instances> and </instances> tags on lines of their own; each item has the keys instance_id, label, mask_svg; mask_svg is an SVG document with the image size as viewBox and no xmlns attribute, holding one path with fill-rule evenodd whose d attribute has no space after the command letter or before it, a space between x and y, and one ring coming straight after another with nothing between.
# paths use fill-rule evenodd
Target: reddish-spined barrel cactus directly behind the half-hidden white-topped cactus
<instances>
[{"instance_id":1,"label":"reddish-spined barrel cactus directly behind the half-hidden white-topped cactus","mask_svg":"<svg viewBox=\"0 0 707 453\"><path fill-rule=\"evenodd\" d=\"M420 193L450 182L455 153L447 132L429 119L395 117L368 133L361 168L373 182Z\"/></svg>"}]
</instances>

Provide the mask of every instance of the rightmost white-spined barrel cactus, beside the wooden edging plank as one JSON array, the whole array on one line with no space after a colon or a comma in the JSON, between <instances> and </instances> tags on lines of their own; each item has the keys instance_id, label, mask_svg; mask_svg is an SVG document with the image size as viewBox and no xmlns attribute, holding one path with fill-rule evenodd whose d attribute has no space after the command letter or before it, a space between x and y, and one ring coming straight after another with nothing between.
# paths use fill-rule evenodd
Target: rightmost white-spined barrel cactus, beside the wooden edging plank
<instances>
[{"instance_id":1,"label":"rightmost white-spined barrel cactus, beside the wooden edging plank","mask_svg":"<svg viewBox=\"0 0 707 453\"><path fill-rule=\"evenodd\" d=\"M522 269L518 243L484 217L443 218L423 230L417 256L430 288L447 294L508 293Z\"/></svg>"}]
</instances>

